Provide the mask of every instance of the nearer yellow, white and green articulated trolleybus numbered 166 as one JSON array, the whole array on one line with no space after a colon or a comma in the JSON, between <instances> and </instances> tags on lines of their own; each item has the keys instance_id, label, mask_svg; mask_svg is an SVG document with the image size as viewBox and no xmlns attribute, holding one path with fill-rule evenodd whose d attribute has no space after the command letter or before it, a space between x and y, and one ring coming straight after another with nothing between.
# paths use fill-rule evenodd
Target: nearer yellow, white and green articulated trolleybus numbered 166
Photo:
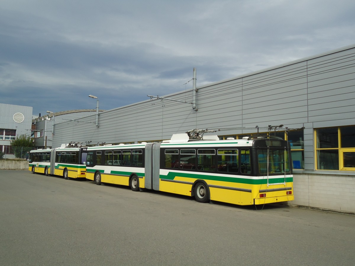
<instances>
[{"instance_id":1,"label":"nearer yellow, white and green articulated trolleybus numbered 166","mask_svg":"<svg viewBox=\"0 0 355 266\"><path fill-rule=\"evenodd\" d=\"M219 140L174 134L162 143L88 147L86 178L238 205L294 199L290 146L278 137Z\"/></svg>"}]
</instances>

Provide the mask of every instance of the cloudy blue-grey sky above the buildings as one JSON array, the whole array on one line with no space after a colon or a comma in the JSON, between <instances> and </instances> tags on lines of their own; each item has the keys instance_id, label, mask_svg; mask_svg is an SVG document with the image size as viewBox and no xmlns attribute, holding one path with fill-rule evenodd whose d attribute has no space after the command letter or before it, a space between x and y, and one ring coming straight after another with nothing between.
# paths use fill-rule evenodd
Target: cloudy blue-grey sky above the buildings
<instances>
[{"instance_id":1,"label":"cloudy blue-grey sky above the buildings","mask_svg":"<svg viewBox=\"0 0 355 266\"><path fill-rule=\"evenodd\" d=\"M110 110L355 43L354 0L1 0L0 103Z\"/></svg>"}]
</instances>

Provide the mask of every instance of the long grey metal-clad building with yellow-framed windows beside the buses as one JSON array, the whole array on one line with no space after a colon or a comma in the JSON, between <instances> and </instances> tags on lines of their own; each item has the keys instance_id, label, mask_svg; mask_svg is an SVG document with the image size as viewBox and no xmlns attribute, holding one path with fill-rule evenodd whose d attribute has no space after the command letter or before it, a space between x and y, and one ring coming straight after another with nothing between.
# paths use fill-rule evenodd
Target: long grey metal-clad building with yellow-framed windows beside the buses
<instances>
[{"instance_id":1,"label":"long grey metal-clad building with yellow-framed windows beside the buses","mask_svg":"<svg viewBox=\"0 0 355 266\"><path fill-rule=\"evenodd\" d=\"M281 124L277 132L261 129ZM355 45L55 124L53 146L159 142L225 127L255 129L215 133L221 139L259 132L289 140L289 205L355 213Z\"/></svg>"}]
</instances>

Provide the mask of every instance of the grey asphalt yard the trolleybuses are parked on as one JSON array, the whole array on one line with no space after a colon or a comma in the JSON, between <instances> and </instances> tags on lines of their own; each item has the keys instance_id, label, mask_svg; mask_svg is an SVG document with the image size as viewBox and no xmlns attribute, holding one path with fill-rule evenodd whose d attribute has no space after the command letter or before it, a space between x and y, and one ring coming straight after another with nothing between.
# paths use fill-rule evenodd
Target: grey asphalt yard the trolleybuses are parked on
<instances>
[{"instance_id":1,"label":"grey asphalt yard the trolleybuses are parked on","mask_svg":"<svg viewBox=\"0 0 355 266\"><path fill-rule=\"evenodd\" d=\"M0 170L0 265L354 265L355 216L258 209Z\"/></svg>"}]
</instances>

